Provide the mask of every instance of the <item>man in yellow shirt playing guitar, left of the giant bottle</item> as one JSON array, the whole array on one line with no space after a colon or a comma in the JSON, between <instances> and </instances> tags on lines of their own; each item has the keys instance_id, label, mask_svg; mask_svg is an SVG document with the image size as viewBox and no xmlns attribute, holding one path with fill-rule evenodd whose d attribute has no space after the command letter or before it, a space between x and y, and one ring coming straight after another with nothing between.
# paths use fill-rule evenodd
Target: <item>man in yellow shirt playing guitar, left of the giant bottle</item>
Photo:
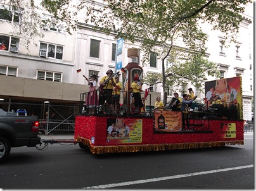
<instances>
[{"instance_id":1,"label":"man in yellow shirt playing guitar, left of the giant bottle","mask_svg":"<svg viewBox=\"0 0 256 191\"><path fill-rule=\"evenodd\" d=\"M103 106L105 101L108 103L111 111L113 111L113 101L112 101L112 92L113 87L115 87L115 78L113 77L113 71L108 70L106 71L106 76L101 78L99 82L99 105Z\"/></svg>"}]
</instances>

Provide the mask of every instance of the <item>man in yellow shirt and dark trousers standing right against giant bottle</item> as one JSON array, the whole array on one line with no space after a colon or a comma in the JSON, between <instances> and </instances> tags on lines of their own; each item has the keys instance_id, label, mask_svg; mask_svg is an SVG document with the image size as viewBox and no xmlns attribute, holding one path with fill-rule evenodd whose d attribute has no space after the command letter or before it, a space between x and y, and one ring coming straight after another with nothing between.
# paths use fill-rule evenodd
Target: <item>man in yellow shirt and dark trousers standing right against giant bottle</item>
<instances>
[{"instance_id":1,"label":"man in yellow shirt and dark trousers standing right against giant bottle","mask_svg":"<svg viewBox=\"0 0 256 191\"><path fill-rule=\"evenodd\" d=\"M138 114L141 114L141 108L143 107L143 102L141 101L141 88L143 83L138 85L138 82L140 82L138 77L133 78L133 82L131 84L130 90L132 90L132 94L134 97L134 106L132 106L132 114L134 114L134 111L136 107L138 107Z\"/></svg>"}]
</instances>

